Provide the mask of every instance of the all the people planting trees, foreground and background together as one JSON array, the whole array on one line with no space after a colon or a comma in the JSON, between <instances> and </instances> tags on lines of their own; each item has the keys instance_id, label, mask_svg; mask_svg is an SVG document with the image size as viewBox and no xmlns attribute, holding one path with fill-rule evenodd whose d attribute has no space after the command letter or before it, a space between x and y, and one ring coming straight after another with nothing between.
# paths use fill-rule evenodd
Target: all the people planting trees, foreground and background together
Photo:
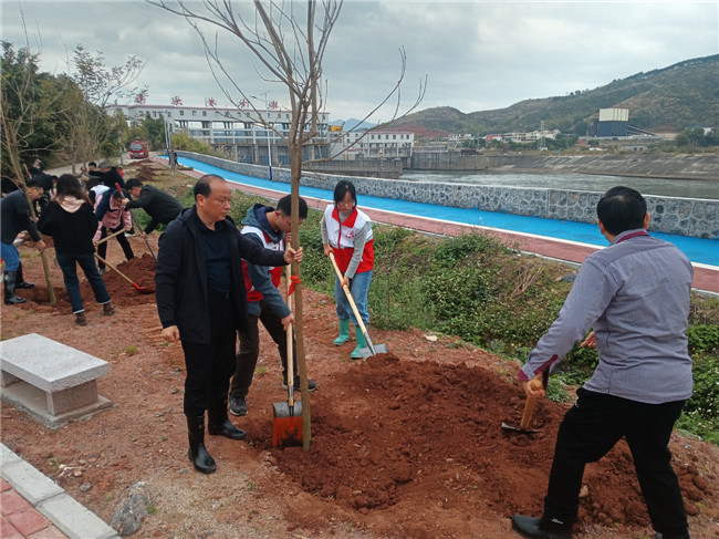
<instances>
[{"instance_id":1,"label":"all the people planting trees, foreground and background together","mask_svg":"<svg viewBox=\"0 0 719 539\"><path fill-rule=\"evenodd\" d=\"M112 314L114 308L93 256L95 242L108 232L129 231L133 208L144 208L152 218L140 234L166 225L155 276L161 335L168 342L179 341L185 355L183 406L189 459L198 471L213 473L217 465L205 445L205 418L210 435L246 438L229 419L228 404L233 415L248 414L247 396L260 350L259 322L278 345L284 386L299 387L299 377L288 380L286 375L288 362L296 362L286 352L286 330L294 314L279 291L282 267L303 258L301 247L291 247L291 197L282 197L277 207L256 204L238 227L228 215L232 188L220 176L198 179L194 205L183 208L168 194L137 179L121 184L116 169L106 163L101 164L102 179L96 180L92 167L83 170L87 176L84 187L69 174L54 185L32 177L27 182L27 198L15 191L2 199L4 302L25 301L15 292L32 287L22 279L13 245L21 230L28 231L40 251L45 246L38 229L52 236L73 313L83 325L76 265L104 314ZM53 196L44 203L35 227L28 200L40 200L51 190ZM648 235L650 216L636 190L609 189L596 211L600 231L609 246L582 265L558 319L519 371L518 385L528 397L543 396L549 374L575 343L596 348L598 365L560 425L543 514L515 515L512 526L525 537L571 538L585 465L602 458L624 437L656 538L688 539L668 443L692 390L686 336L691 265L675 246ZM300 198L299 222L306 216L306 201ZM362 322L368 324L374 236L371 218L357 208L351 182L336 184L321 232L324 253L335 258L341 273L335 277L338 335L334 343L348 342L354 323L356 348L350 355L361 357L366 342L344 288L351 291ZM131 259L127 239L122 234L116 238ZM316 390L317 383L308 380L308 388Z\"/></svg>"}]
</instances>

